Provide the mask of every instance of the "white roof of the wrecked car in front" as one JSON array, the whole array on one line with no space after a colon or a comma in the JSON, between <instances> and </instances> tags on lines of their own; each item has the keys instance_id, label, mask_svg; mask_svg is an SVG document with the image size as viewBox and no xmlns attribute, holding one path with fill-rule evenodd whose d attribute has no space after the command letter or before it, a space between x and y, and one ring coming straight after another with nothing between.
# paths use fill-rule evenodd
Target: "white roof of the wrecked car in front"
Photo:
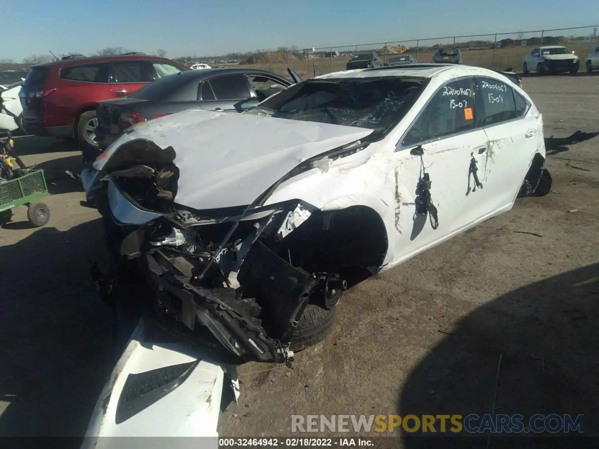
<instances>
[{"instance_id":1,"label":"white roof of the wrecked car in front","mask_svg":"<svg viewBox=\"0 0 599 449\"><path fill-rule=\"evenodd\" d=\"M433 78L443 75L444 80L466 76L485 76L498 79L506 78L498 72L482 67L455 64L409 64L400 66L383 66L373 69L355 69L342 72L333 72L319 77L315 80L334 80L349 78L381 78L381 77L413 77Z\"/></svg>"}]
</instances>

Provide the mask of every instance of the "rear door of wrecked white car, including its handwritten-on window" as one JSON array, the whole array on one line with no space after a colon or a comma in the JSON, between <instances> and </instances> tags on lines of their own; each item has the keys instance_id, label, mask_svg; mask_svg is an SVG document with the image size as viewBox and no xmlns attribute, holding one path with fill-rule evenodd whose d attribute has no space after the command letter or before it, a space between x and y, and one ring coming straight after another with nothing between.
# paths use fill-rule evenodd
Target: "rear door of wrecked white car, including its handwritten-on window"
<instances>
[{"instance_id":1,"label":"rear door of wrecked white car, including its handwritten-on window","mask_svg":"<svg viewBox=\"0 0 599 449\"><path fill-rule=\"evenodd\" d=\"M485 201L508 210L543 141L539 114L515 89L491 77L476 77L476 126L485 130L487 150L479 157ZM536 109L535 109L536 111Z\"/></svg>"}]
</instances>

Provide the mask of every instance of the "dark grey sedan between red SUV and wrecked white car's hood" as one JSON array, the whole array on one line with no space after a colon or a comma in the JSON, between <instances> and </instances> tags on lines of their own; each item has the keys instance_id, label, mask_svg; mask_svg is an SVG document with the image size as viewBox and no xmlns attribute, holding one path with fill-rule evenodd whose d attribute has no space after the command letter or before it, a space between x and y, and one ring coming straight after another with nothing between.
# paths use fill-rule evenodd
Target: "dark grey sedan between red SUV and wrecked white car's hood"
<instances>
[{"instance_id":1,"label":"dark grey sedan between red SUV and wrecked white car's hood","mask_svg":"<svg viewBox=\"0 0 599 449\"><path fill-rule=\"evenodd\" d=\"M301 81L294 71L289 70L289 75L295 83ZM135 123L188 109L243 112L291 84L294 83L286 78L256 69L213 68L179 72L156 80L129 96L98 102L96 139L100 149L104 150L124 129Z\"/></svg>"}]
</instances>

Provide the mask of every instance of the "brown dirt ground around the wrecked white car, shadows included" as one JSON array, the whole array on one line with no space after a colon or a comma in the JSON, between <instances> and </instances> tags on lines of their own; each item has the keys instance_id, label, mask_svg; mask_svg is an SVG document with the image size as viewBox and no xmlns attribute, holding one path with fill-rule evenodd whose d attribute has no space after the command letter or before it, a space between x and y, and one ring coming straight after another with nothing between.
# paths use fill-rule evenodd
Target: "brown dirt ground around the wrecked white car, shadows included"
<instances>
[{"instance_id":1,"label":"brown dirt ground around the wrecked white car, shadows included","mask_svg":"<svg viewBox=\"0 0 599 449\"><path fill-rule=\"evenodd\" d=\"M599 77L524 88L546 136L599 132ZM491 413L501 356L496 413L584 414L597 435L598 144L551 148L550 195L350 289L332 334L292 371L241 366L219 434L290 436L292 414ZM26 136L16 150L46 169L52 217L31 229L19 208L0 229L0 436L80 436L112 368L109 313L88 274L99 215L64 173L80 169L75 147Z\"/></svg>"}]
</instances>

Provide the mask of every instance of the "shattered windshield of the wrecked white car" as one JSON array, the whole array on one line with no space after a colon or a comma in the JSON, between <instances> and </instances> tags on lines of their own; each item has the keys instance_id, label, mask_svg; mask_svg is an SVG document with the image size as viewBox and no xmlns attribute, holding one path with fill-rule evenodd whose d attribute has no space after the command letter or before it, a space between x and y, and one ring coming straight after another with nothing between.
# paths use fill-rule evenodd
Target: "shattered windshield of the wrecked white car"
<instances>
[{"instance_id":1,"label":"shattered windshield of the wrecked white car","mask_svg":"<svg viewBox=\"0 0 599 449\"><path fill-rule=\"evenodd\" d=\"M373 135L380 137L403 119L427 81L414 77L307 80L245 114L357 126L373 129Z\"/></svg>"}]
</instances>

